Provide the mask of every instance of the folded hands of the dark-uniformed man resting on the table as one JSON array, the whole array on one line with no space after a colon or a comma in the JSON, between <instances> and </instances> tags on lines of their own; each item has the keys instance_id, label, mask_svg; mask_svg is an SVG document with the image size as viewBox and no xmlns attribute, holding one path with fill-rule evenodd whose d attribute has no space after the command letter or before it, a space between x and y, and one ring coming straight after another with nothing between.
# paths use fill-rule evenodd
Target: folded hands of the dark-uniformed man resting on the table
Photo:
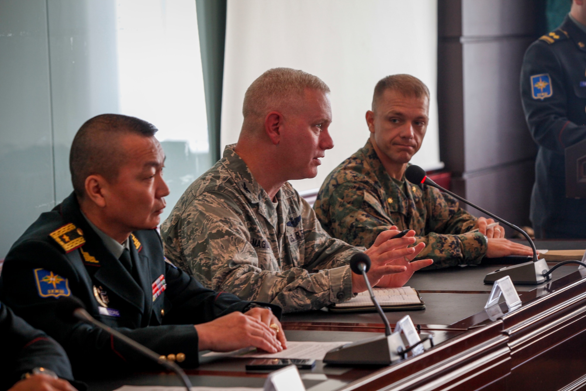
<instances>
[{"instance_id":1,"label":"folded hands of the dark-uniformed man resting on the table","mask_svg":"<svg viewBox=\"0 0 586 391\"><path fill-rule=\"evenodd\" d=\"M270 353L283 350L273 329L255 316L242 312L231 312L211 322L195 325L195 329L199 336L199 350L230 352L247 346Z\"/></svg>"}]
</instances>

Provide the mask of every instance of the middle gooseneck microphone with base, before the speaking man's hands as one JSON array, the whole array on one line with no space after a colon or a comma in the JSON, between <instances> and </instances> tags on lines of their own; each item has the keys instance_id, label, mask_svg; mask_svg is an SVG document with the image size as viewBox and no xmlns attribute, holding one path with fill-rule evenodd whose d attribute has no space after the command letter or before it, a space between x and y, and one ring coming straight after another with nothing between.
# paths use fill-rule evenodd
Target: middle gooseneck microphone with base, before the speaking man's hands
<instances>
[{"instance_id":1,"label":"middle gooseneck microphone with base, before the speaking man's hands","mask_svg":"<svg viewBox=\"0 0 586 391\"><path fill-rule=\"evenodd\" d=\"M331 365L390 365L403 358L406 351L400 333L391 333L389 320L384 316L383 309L374 298L372 288L366 272L370 269L370 258L360 252L350 258L350 269L356 274L362 274L370 293L370 299L384 323L384 335L363 339L330 350L323 358L323 362Z\"/></svg>"}]
</instances>

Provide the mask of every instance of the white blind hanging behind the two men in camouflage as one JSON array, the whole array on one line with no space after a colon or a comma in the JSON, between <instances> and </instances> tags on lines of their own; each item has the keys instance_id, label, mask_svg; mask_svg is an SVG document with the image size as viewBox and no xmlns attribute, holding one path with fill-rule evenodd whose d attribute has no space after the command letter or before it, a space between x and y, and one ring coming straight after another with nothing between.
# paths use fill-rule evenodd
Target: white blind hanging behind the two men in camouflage
<instances>
[{"instance_id":1,"label":"white blind hanging behind the two men in camouflage","mask_svg":"<svg viewBox=\"0 0 586 391\"><path fill-rule=\"evenodd\" d=\"M366 142L364 113L374 85L395 73L414 75L431 92L430 124L413 163L440 162L437 122L437 0L228 0L222 98L222 146L235 143L244 92L265 70L302 69L332 90L335 143L318 176L291 181L319 188L333 168Z\"/></svg>"}]
</instances>

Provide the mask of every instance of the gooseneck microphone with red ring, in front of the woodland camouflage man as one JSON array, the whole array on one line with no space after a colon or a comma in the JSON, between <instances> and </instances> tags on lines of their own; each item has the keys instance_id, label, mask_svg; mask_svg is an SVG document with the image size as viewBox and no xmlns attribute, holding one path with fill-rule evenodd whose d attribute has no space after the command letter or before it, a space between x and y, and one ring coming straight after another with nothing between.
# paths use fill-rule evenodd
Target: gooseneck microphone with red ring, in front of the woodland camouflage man
<instances>
[{"instance_id":1,"label":"gooseneck microphone with red ring, in front of the woodland camouflage man","mask_svg":"<svg viewBox=\"0 0 586 391\"><path fill-rule=\"evenodd\" d=\"M502 218L498 217L497 215L494 215L494 214L490 213L489 211L484 210L483 208L481 208L475 204L472 204L470 201L465 200L464 198L460 197L458 194L454 194L451 191L446 190L445 188L441 187L440 185L438 185L437 183L432 181L430 178L428 178L427 174L425 173L423 168L421 168L419 166L415 166L414 164L411 164L411 166L407 167L407 170L405 171L405 178L408 181L410 181L411 183L415 183L415 184L421 183L421 184L426 184L428 186L438 188L441 191L443 191L444 193L447 193L447 194L451 195L452 197L457 198L458 200L462 201L463 203L466 203L466 204L470 205L471 207L478 209L482 213L488 214L490 217L494 218L495 220L500 221L500 223L503 223L503 224L513 228L513 230L521 232L521 234L527 239L527 241L529 242L529 244L531 245L531 248L533 250L533 260L529 261L529 262L524 262L522 264L512 265L512 266L509 266L506 268L502 268L502 269L498 269L496 271L490 272L484 278L485 284L492 284L497 279L505 277L506 275L510 276L510 278L513 280L513 282L515 282L516 284L541 284L541 282L544 282L544 281L546 281L546 279L550 278L549 275L551 274L551 272L550 272L549 267L547 266L547 262L545 261L545 259L537 258L537 250L535 249L535 244L533 243L533 240L531 240L529 235L527 235L527 232L523 231L521 228L517 227L515 224L511 224L508 221L503 220Z\"/></svg>"}]
</instances>

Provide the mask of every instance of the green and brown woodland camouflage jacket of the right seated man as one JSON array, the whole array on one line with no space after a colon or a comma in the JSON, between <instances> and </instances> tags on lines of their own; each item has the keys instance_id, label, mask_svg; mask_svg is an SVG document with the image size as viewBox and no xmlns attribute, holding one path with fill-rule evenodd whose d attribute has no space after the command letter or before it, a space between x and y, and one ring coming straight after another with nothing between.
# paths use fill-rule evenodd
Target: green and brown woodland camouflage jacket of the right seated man
<instances>
[{"instance_id":1,"label":"green and brown woodland camouflage jacket of the right seated man","mask_svg":"<svg viewBox=\"0 0 586 391\"><path fill-rule=\"evenodd\" d=\"M322 227L349 244L370 247L377 235L396 225L415 231L426 247L415 259L434 260L426 269L479 264L485 235L472 230L476 218L436 188L394 180L370 140L336 167L323 182L314 209Z\"/></svg>"}]
</instances>

